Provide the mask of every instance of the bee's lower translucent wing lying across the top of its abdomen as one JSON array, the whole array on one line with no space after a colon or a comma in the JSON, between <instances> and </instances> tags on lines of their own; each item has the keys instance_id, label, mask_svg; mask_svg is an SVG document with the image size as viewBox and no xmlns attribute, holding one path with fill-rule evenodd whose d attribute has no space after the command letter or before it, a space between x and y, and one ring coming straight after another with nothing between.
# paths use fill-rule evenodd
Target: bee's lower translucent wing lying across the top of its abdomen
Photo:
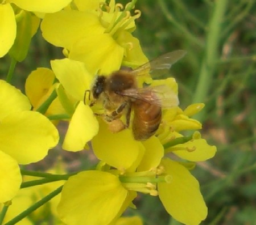
<instances>
[{"instance_id":1,"label":"bee's lower translucent wing lying across the top of its abdomen","mask_svg":"<svg viewBox=\"0 0 256 225\"><path fill-rule=\"evenodd\" d=\"M133 99L146 101L163 108L171 108L179 105L179 99L174 91L167 85L159 85L145 88L131 88L118 93Z\"/></svg>"}]
</instances>

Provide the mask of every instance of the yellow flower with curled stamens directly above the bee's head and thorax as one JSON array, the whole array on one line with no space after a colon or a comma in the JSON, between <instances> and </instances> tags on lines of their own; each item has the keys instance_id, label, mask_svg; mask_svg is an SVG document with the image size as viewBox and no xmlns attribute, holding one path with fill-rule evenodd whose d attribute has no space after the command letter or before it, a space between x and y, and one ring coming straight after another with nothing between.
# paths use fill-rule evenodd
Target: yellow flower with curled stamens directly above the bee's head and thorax
<instances>
[{"instance_id":1,"label":"yellow flower with curled stamens directly above the bee's head and thorax","mask_svg":"<svg viewBox=\"0 0 256 225\"><path fill-rule=\"evenodd\" d=\"M131 16L128 10L121 12L120 4L106 9L102 11L99 5L98 12L89 7L47 14L41 26L43 37L65 48L70 59L84 62L92 74L112 73L122 62L133 67L146 62L138 39L130 33L140 12Z\"/></svg>"}]
</instances>

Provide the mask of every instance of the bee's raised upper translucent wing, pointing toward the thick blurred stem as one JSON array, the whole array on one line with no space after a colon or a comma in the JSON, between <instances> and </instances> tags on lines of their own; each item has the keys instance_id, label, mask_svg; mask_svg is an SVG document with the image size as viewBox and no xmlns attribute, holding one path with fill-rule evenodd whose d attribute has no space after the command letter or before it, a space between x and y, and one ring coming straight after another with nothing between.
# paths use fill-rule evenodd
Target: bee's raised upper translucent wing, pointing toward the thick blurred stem
<instances>
[{"instance_id":1,"label":"bee's raised upper translucent wing, pointing toward the thick blurred stem","mask_svg":"<svg viewBox=\"0 0 256 225\"><path fill-rule=\"evenodd\" d=\"M149 61L142 66L139 66L137 69L131 71L135 76L147 75L148 73L154 77L160 77L166 73L171 66L185 56L187 52L184 50L175 50L174 52L168 52L155 58L152 61Z\"/></svg>"}]
</instances>

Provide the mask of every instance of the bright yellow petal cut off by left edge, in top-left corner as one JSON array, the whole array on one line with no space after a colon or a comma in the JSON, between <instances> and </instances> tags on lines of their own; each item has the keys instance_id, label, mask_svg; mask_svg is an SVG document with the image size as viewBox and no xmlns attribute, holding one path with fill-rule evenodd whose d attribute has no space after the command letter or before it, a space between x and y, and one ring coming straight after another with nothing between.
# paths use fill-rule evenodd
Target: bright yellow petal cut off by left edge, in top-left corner
<instances>
[{"instance_id":1,"label":"bright yellow petal cut off by left edge, in top-left corner","mask_svg":"<svg viewBox=\"0 0 256 225\"><path fill-rule=\"evenodd\" d=\"M3 57L14 43L16 21L10 4L0 4L0 15L0 57Z\"/></svg>"}]
</instances>

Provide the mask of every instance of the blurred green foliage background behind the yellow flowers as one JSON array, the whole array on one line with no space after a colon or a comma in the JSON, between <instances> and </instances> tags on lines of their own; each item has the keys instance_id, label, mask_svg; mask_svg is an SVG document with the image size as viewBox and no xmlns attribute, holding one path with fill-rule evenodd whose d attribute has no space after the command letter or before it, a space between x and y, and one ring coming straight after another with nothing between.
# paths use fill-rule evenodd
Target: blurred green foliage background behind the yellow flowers
<instances>
[{"instance_id":1,"label":"blurred green foliage background behind the yellow flowers","mask_svg":"<svg viewBox=\"0 0 256 225\"><path fill-rule=\"evenodd\" d=\"M171 69L181 108L206 105L196 118L217 154L192 171L208 205L202 224L256 224L256 1L138 0L136 9L142 16L134 36L148 58L187 51ZM23 90L27 75L55 58L63 58L61 49L39 31L28 57L16 66L15 86ZM1 78L9 64L9 57L1 59ZM136 205L132 213L142 215L145 225L179 224L158 198L143 196Z\"/></svg>"}]
</instances>

